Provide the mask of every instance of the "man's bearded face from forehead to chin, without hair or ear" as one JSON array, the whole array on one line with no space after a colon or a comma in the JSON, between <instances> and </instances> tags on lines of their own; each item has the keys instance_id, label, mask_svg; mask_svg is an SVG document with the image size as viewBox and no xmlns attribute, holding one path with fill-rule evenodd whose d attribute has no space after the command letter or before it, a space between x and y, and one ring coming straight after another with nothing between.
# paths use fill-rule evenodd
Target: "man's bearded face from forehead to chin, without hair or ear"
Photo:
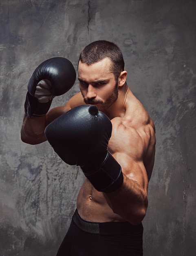
<instances>
[{"instance_id":1,"label":"man's bearded face from forehead to chin, without hair or ear","mask_svg":"<svg viewBox=\"0 0 196 256\"><path fill-rule=\"evenodd\" d=\"M118 98L118 82L110 72L110 59L92 65L79 62L78 80L86 104L96 105L105 112Z\"/></svg>"}]
</instances>

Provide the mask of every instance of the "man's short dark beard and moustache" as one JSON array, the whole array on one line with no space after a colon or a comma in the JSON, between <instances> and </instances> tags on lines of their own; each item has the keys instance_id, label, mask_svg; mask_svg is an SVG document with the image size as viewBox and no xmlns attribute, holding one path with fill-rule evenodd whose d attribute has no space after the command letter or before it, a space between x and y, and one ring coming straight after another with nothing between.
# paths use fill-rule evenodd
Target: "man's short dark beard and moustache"
<instances>
[{"instance_id":1,"label":"man's short dark beard and moustache","mask_svg":"<svg viewBox=\"0 0 196 256\"><path fill-rule=\"evenodd\" d=\"M83 95L82 96L86 104L98 104L98 109L102 112L106 112L106 110L110 108L110 106L112 106L112 104L118 99L118 95L118 83L116 83L115 89L113 90L112 94L106 99L106 101L102 101L99 99L88 99L85 98Z\"/></svg>"}]
</instances>

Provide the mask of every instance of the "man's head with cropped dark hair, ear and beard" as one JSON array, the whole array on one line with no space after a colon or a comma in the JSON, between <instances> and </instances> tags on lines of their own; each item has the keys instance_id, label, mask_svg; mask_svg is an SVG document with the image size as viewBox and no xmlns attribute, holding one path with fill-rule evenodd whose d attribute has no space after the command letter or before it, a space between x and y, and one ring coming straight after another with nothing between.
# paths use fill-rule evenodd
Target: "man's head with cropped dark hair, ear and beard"
<instances>
[{"instance_id":1,"label":"man's head with cropped dark hair, ear and beard","mask_svg":"<svg viewBox=\"0 0 196 256\"><path fill-rule=\"evenodd\" d=\"M97 105L106 112L117 101L126 76L122 53L115 44L96 41L81 52L78 80L86 104Z\"/></svg>"}]
</instances>

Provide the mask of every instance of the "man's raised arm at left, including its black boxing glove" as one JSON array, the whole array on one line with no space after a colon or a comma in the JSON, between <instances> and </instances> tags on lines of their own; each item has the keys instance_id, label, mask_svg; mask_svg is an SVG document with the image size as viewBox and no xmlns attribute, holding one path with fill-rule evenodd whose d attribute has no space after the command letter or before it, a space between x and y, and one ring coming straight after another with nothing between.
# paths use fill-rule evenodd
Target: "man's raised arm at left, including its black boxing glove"
<instances>
[{"instance_id":1,"label":"man's raised arm at left, including its black boxing glove","mask_svg":"<svg viewBox=\"0 0 196 256\"><path fill-rule=\"evenodd\" d=\"M62 57L42 62L33 72L24 103L24 119L21 129L22 141L39 144L46 141L44 129L48 120L59 116L65 107L48 113L55 96L62 95L75 83L76 72L72 63Z\"/></svg>"}]
</instances>

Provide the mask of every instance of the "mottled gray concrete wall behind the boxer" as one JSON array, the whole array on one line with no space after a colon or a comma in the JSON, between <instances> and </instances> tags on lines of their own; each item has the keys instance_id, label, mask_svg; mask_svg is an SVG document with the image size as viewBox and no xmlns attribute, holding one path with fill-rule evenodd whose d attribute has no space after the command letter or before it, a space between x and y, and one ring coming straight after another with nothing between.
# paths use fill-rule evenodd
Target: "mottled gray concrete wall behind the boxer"
<instances>
[{"instance_id":1,"label":"mottled gray concrete wall behind the boxer","mask_svg":"<svg viewBox=\"0 0 196 256\"><path fill-rule=\"evenodd\" d=\"M48 142L20 140L29 78L42 61L106 39L156 125L145 256L196 255L196 1L1 0L0 255L53 256L84 179ZM52 107L78 92L78 82Z\"/></svg>"}]
</instances>

